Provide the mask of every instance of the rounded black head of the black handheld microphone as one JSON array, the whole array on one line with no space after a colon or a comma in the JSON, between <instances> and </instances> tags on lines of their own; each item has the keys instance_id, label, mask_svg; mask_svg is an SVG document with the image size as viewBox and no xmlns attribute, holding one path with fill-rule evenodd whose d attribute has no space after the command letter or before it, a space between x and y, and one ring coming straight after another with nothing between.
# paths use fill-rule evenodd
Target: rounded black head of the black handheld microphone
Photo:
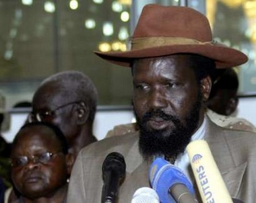
<instances>
[{"instance_id":1,"label":"rounded black head of the black handheld microphone","mask_svg":"<svg viewBox=\"0 0 256 203\"><path fill-rule=\"evenodd\" d=\"M125 177L125 169L126 164L123 155L117 152L109 153L102 164L103 178L106 171L115 171L123 179Z\"/></svg>"}]
</instances>

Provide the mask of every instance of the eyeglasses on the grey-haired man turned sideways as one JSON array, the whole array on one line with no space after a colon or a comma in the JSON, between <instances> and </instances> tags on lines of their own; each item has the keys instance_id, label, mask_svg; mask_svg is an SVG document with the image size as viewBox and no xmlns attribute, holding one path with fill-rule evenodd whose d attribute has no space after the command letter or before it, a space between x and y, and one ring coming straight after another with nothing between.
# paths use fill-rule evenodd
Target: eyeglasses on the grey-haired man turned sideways
<instances>
[{"instance_id":1,"label":"eyeglasses on the grey-haired man turned sideways","mask_svg":"<svg viewBox=\"0 0 256 203\"><path fill-rule=\"evenodd\" d=\"M71 104L79 104L80 102L82 102L82 101L69 102L62 106L58 106L54 110L50 110L50 111L46 111L46 112L30 112L30 114L28 114L28 122L33 122L35 120L38 122L42 122L43 120L47 120L47 119L51 118L51 116L53 116L55 114L55 112L57 112L57 110L60 110L61 108L65 108L66 106L69 106Z\"/></svg>"}]
</instances>

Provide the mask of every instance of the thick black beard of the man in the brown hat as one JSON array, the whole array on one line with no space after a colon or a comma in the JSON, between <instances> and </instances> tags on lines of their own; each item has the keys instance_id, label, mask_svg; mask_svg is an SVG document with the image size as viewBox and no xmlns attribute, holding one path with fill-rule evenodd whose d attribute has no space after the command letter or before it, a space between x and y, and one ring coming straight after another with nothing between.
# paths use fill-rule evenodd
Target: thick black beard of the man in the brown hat
<instances>
[{"instance_id":1,"label":"thick black beard of the man in the brown hat","mask_svg":"<svg viewBox=\"0 0 256 203\"><path fill-rule=\"evenodd\" d=\"M183 153L191 140L191 136L199 123L199 111L201 109L201 91L197 94L197 100L191 108L191 113L185 118L185 124L177 116L167 115L162 110L151 110L139 119L135 112L139 126L139 151L144 159L152 160L154 156L168 157L175 160ZM152 116L159 116L164 120L171 120L175 127L164 130L150 130L146 123Z\"/></svg>"}]
</instances>

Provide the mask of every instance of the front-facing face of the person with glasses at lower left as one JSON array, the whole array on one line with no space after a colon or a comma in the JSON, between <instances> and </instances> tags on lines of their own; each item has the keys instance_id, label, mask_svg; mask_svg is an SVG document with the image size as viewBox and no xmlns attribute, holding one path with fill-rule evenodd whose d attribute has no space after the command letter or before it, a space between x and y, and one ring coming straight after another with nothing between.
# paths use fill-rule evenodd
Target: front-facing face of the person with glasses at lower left
<instances>
[{"instance_id":1,"label":"front-facing face of the person with glasses at lower left","mask_svg":"<svg viewBox=\"0 0 256 203\"><path fill-rule=\"evenodd\" d=\"M15 188L28 198L51 196L67 182L67 155L61 151L61 146L54 132L45 126L29 126L19 133L18 143L13 146L11 159L17 165L11 166L11 179ZM39 159L44 153L54 155L46 163ZM28 163L19 165L19 157L28 157ZM19 159L18 159L19 158Z\"/></svg>"}]
</instances>

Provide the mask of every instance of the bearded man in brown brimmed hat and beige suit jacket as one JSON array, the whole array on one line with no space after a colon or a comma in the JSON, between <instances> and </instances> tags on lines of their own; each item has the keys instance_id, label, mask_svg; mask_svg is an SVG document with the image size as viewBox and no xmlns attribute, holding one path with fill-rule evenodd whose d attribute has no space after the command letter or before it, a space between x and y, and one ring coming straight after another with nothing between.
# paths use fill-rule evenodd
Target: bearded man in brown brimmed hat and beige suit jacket
<instances>
[{"instance_id":1,"label":"bearded man in brown brimmed hat and beige suit jacket","mask_svg":"<svg viewBox=\"0 0 256 203\"><path fill-rule=\"evenodd\" d=\"M188 7L146 5L126 52L96 52L110 63L131 67L133 105L139 132L100 140L80 151L67 202L100 202L102 162L113 151L126 161L117 202L150 187L148 171L156 155L170 161L196 184L185 148L206 140L232 198L254 202L256 134L216 126L205 116L216 67L247 61L238 50L214 44L207 18ZM200 197L197 196L200 202Z\"/></svg>"}]
</instances>

